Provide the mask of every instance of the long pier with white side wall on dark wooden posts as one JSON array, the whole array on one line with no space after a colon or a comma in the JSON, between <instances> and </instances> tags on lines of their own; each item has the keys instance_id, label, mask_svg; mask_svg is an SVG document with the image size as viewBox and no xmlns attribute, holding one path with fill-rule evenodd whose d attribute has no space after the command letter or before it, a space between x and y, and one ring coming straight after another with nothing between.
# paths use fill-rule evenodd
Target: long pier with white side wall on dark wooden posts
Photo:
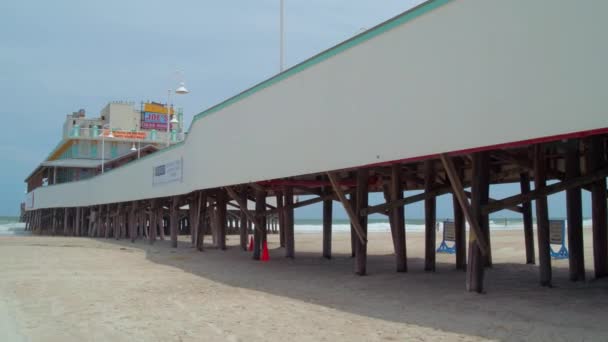
<instances>
[{"instance_id":1,"label":"long pier with white side wall on dark wooden posts","mask_svg":"<svg viewBox=\"0 0 608 342\"><path fill-rule=\"evenodd\" d=\"M606 277L608 46L598 42L607 10L427 1L203 111L181 143L103 175L34 189L27 229L169 239L173 247L182 231L199 250L208 235L225 249L235 232L244 251L252 233L254 259L275 229L284 256L297 262L294 210L323 203L319 255L330 259L337 202L352 227L353 272L363 276L368 216L389 218L395 271L407 272L404 206L424 202L424 270L435 272L436 198L451 194L455 272L466 271L468 291L484 292L496 248L489 215L499 210L522 215L521 262L538 264L538 283L553 285L547 196L558 192L567 198L569 279L585 280L586 191L594 276ZM516 19L525 30L513 28ZM490 187L503 183L521 193L490 198ZM406 190L422 192L404 197ZM385 203L370 206L370 193ZM298 195L313 197L295 202Z\"/></svg>"}]
</instances>

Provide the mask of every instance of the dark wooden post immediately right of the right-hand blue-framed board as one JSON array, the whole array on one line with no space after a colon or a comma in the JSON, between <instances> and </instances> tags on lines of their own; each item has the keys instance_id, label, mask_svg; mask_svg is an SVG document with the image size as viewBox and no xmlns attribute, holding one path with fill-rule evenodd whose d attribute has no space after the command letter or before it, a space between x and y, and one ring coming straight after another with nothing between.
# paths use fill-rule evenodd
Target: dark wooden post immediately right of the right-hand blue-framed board
<instances>
[{"instance_id":1,"label":"dark wooden post immediately right of the right-hand blue-framed board","mask_svg":"<svg viewBox=\"0 0 608 342\"><path fill-rule=\"evenodd\" d=\"M566 179L581 175L579 142L569 140L564 144L566 152ZM566 216L568 220L568 265L570 280L585 280L585 255L583 247L583 204L581 188L566 190Z\"/></svg>"}]
</instances>

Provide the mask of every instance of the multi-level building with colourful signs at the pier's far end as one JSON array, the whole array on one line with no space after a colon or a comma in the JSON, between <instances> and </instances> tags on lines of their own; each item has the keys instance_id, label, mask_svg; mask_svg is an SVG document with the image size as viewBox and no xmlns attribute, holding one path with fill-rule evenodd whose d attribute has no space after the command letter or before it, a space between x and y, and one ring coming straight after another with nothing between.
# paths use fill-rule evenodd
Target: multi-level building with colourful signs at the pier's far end
<instances>
[{"instance_id":1,"label":"multi-level building with colourful signs at the pier's far end","mask_svg":"<svg viewBox=\"0 0 608 342\"><path fill-rule=\"evenodd\" d=\"M167 107L161 103L142 102L138 109L133 102L115 101L97 117L87 117L84 109L68 114L60 142L25 179L27 191L88 179L154 153L167 141L174 145L184 139L181 109L177 117L179 123L167 132Z\"/></svg>"}]
</instances>

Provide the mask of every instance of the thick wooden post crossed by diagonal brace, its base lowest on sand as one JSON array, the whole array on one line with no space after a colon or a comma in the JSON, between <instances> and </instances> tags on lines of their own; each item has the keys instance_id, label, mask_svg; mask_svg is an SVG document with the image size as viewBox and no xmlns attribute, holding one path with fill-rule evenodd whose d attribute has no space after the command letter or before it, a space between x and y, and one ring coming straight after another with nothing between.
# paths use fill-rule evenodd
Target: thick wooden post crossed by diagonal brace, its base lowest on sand
<instances>
[{"instance_id":1,"label":"thick wooden post crossed by diagonal brace, its base lowest on sand","mask_svg":"<svg viewBox=\"0 0 608 342\"><path fill-rule=\"evenodd\" d=\"M479 234L486 238L488 215L483 215L481 207L488 202L489 194L489 157L487 152L473 153L473 175L471 183L471 214L479 225ZM469 231L469 262L467 263L467 290L483 292L483 275L486 259L481 253L478 234ZM484 239L485 240L485 239ZM487 241L487 240L485 240ZM488 245L489 252L489 245Z\"/></svg>"}]
</instances>

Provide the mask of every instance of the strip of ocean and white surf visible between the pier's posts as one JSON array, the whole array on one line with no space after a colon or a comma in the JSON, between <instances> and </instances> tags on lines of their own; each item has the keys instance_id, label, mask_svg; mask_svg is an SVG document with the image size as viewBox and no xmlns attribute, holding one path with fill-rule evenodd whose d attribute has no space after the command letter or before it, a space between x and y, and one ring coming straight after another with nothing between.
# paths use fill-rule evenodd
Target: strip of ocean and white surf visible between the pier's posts
<instances>
[{"instance_id":1,"label":"strip of ocean and white surf visible between the pier's posts","mask_svg":"<svg viewBox=\"0 0 608 342\"><path fill-rule=\"evenodd\" d=\"M555 220L563 220L563 218L551 218ZM443 221L449 221L449 219L437 218L438 229L443 228ZM490 229L491 230L519 230L524 226L523 220L518 218L491 218ZM536 227L536 224L534 224ZM568 222L566 222L566 227ZM584 227L591 226L591 219L585 219L583 221ZM323 230L323 221L320 219L296 219L295 231L298 233L318 233ZM468 229L468 224L467 224ZM390 225L386 219L369 219L367 223L368 232L390 232ZM423 232L424 231L424 220L423 219L406 219L405 230L408 232ZM347 219L334 219L332 221L332 231L334 232L350 232L350 222Z\"/></svg>"}]
</instances>

